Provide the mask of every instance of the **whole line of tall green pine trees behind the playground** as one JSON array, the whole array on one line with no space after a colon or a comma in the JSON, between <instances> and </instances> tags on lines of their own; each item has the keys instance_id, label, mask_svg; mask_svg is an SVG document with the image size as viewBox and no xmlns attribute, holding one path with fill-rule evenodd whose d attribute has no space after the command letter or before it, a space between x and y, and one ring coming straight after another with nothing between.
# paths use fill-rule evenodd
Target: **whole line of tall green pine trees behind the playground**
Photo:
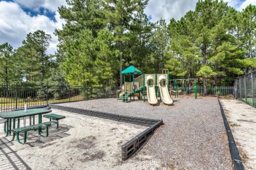
<instances>
[{"instance_id":1,"label":"whole line of tall green pine trees behind the playground","mask_svg":"<svg viewBox=\"0 0 256 170\"><path fill-rule=\"evenodd\" d=\"M120 72L169 69L172 78L198 78L201 85L230 86L256 67L256 7L238 11L223 1L198 1L196 9L167 25L150 22L148 0L66 0L58 50L47 54L51 36L29 33L22 46L0 45L0 82L119 86ZM156 7L157 8L157 7Z\"/></svg>"}]
</instances>

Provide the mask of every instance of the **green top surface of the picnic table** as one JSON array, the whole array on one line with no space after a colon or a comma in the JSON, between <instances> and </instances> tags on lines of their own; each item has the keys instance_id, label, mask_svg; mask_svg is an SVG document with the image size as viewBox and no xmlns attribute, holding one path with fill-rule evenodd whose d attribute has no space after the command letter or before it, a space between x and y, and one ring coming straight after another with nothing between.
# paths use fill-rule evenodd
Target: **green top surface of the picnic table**
<instances>
[{"instance_id":1,"label":"green top surface of the picnic table","mask_svg":"<svg viewBox=\"0 0 256 170\"><path fill-rule=\"evenodd\" d=\"M26 109L26 112L24 110L14 110L11 112L1 112L0 118L4 119L11 119L11 118L23 118L26 116L34 116L37 114L46 114L51 112L50 109Z\"/></svg>"}]
</instances>

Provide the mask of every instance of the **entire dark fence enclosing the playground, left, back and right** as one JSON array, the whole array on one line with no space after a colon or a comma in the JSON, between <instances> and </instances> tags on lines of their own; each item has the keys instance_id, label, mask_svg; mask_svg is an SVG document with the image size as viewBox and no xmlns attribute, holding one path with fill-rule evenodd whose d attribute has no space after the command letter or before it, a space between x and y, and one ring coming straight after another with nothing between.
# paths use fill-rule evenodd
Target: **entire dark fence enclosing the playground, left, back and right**
<instances>
[{"instance_id":1,"label":"entire dark fence enclosing the playground, left, back and right","mask_svg":"<svg viewBox=\"0 0 256 170\"><path fill-rule=\"evenodd\" d=\"M128 88L128 87L127 87ZM24 86L0 84L0 111L7 112L13 109L45 106L49 103L64 103L100 98L116 98L120 87L93 87L79 86ZM170 90L174 90L169 86ZM179 87L183 93L194 93L195 88ZM198 94L203 94L203 87L197 88ZM240 77L234 87L207 88L207 95L232 96L249 105L256 107L256 72Z\"/></svg>"}]
</instances>

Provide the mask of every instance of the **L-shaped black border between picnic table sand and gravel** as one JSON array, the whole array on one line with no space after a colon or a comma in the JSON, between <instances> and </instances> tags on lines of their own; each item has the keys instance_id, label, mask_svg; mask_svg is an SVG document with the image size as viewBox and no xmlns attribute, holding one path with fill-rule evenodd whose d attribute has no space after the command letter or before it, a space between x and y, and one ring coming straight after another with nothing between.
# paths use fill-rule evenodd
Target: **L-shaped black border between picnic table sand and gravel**
<instances>
[{"instance_id":1,"label":"L-shaped black border between picnic table sand and gravel","mask_svg":"<svg viewBox=\"0 0 256 170\"><path fill-rule=\"evenodd\" d=\"M52 109L64 110L68 112L75 112L78 114L85 114L87 116L95 116L99 118L106 118L110 120L116 120L119 122L127 122L130 124L138 124L142 126L149 126L148 129L139 133L139 135L133 137L130 141L123 144L121 146L121 159L127 160L131 157L137 150L139 150L140 146L142 146L148 137L152 135L159 126L163 124L163 120L156 120L150 118L139 118L133 116L123 116L121 114L112 114L108 112L99 112L95 110L87 110L87 109L77 109L73 107L64 107L60 105L49 104L47 107L51 107Z\"/></svg>"}]
</instances>

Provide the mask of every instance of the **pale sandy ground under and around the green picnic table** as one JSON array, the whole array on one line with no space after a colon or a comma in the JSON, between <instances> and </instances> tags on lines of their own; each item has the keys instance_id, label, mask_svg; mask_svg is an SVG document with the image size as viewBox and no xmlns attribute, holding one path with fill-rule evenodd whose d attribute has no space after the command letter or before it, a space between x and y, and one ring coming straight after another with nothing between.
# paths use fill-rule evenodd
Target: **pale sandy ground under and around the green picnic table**
<instances>
[{"instance_id":1,"label":"pale sandy ground under and around the green picnic table","mask_svg":"<svg viewBox=\"0 0 256 170\"><path fill-rule=\"evenodd\" d=\"M49 137L45 138L38 137L37 131L30 131L27 144L15 140L1 145L0 169L129 169L127 165L119 165L121 145L146 126L52 110L66 116L60 120L59 129L50 127Z\"/></svg>"}]
</instances>

